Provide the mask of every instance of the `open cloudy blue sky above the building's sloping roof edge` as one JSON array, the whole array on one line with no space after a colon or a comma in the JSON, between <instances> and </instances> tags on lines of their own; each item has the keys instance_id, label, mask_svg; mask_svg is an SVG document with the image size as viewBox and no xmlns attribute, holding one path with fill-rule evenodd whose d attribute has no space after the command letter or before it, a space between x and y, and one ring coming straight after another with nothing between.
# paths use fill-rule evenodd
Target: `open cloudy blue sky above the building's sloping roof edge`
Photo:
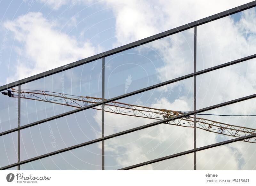
<instances>
[{"instance_id":1,"label":"open cloudy blue sky above the building's sloping roof edge","mask_svg":"<svg viewBox=\"0 0 256 186\"><path fill-rule=\"evenodd\" d=\"M202 2L199 0L187 1L187 3L159 1L156 4L154 1L143 0L136 2L0 1L0 85L89 57L249 1L210 2L207 7ZM22 27L21 22L27 25ZM45 33L52 32L48 38L42 39L49 40L45 41L42 47L40 47L42 41L38 37L40 38L40 34L44 33L40 33L40 30ZM82 51L76 52L60 44L63 38L58 38L60 35L66 39L68 37L64 45L73 45L74 50ZM31 37L34 41L28 41ZM49 51L59 52L56 48L51 48L50 41L56 37L54 42L57 44L54 47L63 50L60 55L52 55ZM40 60L42 56L49 57ZM42 63L44 63L43 66L40 65Z\"/></svg>"}]
</instances>

